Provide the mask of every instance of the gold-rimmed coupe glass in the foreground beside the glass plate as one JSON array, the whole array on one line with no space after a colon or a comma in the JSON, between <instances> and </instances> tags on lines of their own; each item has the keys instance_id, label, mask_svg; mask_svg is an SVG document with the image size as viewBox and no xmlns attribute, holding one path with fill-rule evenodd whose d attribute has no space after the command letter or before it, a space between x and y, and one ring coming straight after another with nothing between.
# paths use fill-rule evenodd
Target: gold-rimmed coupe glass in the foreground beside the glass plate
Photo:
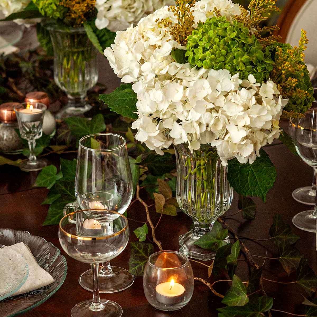
<instances>
[{"instance_id":1,"label":"gold-rimmed coupe glass in the foreground beside the glass plate","mask_svg":"<svg viewBox=\"0 0 317 317\"><path fill-rule=\"evenodd\" d=\"M86 230L79 219L95 219L108 223L102 230ZM76 218L74 223L71 219ZM79 229L81 227L81 229ZM96 231L96 233L94 232ZM89 263L92 270L93 299L75 305L72 317L120 317L122 308L113 301L101 300L98 288L99 263L118 256L129 240L126 217L113 210L79 210L63 217L59 223L58 238L63 250L75 260Z\"/></svg>"}]
</instances>

